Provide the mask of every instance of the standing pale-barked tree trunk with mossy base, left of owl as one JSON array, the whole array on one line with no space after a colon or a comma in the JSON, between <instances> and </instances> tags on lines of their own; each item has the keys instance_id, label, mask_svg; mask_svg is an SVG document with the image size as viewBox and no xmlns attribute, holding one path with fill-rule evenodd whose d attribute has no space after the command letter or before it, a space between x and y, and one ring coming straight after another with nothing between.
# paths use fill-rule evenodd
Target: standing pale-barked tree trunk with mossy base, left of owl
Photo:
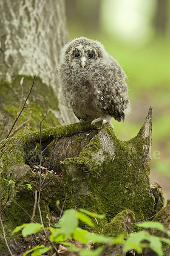
<instances>
[{"instance_id":1,"label":"standing pale-barked tree trunk with mossy base, left of owl","mask_svg":"<svg viewBox=\"0 0 170 256\"><path fill-rule=\"evenodd\" d=\"M32 83L30 76L33 74L42 81L38 79L35 84L29 105L31 110L24 117L22 115L18 124L26 121L31 114L28 128L34 131L48 109L49 125L75 122L74 114L62 105L62 100L59 103L57 100L61 98L61 93L56 79L56 67L61 48L68 41L64 1L0 0L0 17L1 139L17 116L22 97L20 80L24 77L23 95L26 96ZM44 125L49 127L47 122Z\"/></svg>"}]
</instances>

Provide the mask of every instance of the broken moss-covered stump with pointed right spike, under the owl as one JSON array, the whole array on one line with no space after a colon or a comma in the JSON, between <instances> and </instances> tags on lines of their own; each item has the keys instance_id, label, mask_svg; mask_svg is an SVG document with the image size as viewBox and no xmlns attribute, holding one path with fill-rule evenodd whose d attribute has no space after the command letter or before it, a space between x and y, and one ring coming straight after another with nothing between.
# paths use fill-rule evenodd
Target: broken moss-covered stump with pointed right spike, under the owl
<instances>
[{"instance_id":1,"label":"broken moss-covered stump with pointed right spike, under the owl","mask_svg":"<svg viewBox=\"0 0 170 256\"><path fill-rule=\"evenodd\" d=\"M92 131L90 124L80 123L42 130L42 184L47 184L41 192L40 202L44 224L47 214L54 222L59 217L56 201L62 205L66 194L65 209L81 207L104 213L106 218L95 223L94 231L101 231L110 222L112 224L105 228L106 233L115 236L122 233L116 228L115 218L116 221L125 220L130 214L131 224L133 212L136 221L142 221L163 207L161 192L156 194L161 197L159 204L150 193L151 114L152 108L139 134L125 142L119 141L107 125L100 128L101 124ZM6 140L0 155L3 219L8 219L4 226L15 253L21 241L15 238L17 244L14 244L11 231L30 221L17 204L31 216L34 191L40 190L40 132ZM8 182L3 178L15 181L8 186L9 192L4 192ZM32 189L27 189L26 184L31 184ZM126 209L130 212L122 212ZM40 222L39 218L36 212L35 221ZM20 250L23 250L22 246Z\"/></svg>"}]
</instances>

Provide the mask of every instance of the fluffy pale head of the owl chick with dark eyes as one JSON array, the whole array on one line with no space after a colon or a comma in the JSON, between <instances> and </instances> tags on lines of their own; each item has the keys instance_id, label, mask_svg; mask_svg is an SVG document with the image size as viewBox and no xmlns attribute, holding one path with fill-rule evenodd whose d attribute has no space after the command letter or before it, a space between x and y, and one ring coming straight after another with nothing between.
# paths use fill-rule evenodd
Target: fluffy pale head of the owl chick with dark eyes
<instances>
[{"instance_id":1,"label":"fluffy pale head of the owl chick with dark eyes","mask_svg":"<svg viewBox=\"0 0 170 256\"><path fill-rule=\"evenodd\" d=\"M62 64L73 64L84 69L89 65L95 65L101 59L106 59L108 53L104 46L98 41L85 37L75 38L62 49L60 62Z\"/></svg>"}]
</instances>

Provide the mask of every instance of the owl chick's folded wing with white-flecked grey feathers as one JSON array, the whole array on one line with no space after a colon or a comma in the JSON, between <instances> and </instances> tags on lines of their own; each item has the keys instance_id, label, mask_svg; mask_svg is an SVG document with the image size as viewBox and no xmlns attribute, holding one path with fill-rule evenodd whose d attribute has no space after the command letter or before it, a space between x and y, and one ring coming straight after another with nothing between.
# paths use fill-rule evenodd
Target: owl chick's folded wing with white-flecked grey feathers
<instances>
[{"instance_id":1,"label":"owl chick's folded wing with white-flecked grey feathers","mask_svg":"<svg viewBox=\"0 0 170 256\"><path fill-rule=\"evenodd\" d=\"M99 68L94 76L96 98L99 108L113 116L118 122L125 119L125 109L129 105L126 75L119 63L111 57L111 63Z\"/></svg>"}]
</instances>

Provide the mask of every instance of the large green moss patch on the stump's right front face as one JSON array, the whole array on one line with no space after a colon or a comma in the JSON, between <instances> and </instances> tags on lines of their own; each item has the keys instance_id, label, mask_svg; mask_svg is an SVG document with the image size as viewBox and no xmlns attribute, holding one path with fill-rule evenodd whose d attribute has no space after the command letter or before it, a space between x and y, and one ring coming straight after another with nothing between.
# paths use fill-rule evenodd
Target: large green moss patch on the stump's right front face
<instances>
[{"instance_id":1,"label":"large green moss patch on the stump's right front face","mask_svg":"<svg viewBox=\"0 0 170 256\"><path fill-rule=\"evenodd\" d=\"M95 205L93 198L98 198L96 211L105 212L108 221L124 209L131 209L137 220L149 218L153 214L155 198L149 193L148 167L144 168L139 157L143 150L140 140L121 142L108 126L103 131L110 134L116 148L114 160L103 152L105 160L96 161L94 155L101 147L96 135L78 157L62 161L63 179L70 175L69 186L71 183L79 186L82 201L84 194L90 197L88 209L92 209L91 202ZM136 175L137 170L140 174Z\"/></svg>"}]
</instances>

